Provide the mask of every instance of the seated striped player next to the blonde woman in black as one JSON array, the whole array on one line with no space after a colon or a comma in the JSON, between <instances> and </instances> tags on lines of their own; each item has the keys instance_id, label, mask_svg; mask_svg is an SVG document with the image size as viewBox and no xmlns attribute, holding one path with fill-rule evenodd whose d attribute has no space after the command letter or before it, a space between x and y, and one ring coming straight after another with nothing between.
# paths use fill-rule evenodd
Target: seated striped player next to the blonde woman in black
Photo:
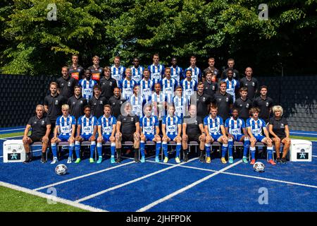
<instances>
[{"instance_id":1,"label":"seated striped player next to the blonde woman in black","mask_svg":"<svg viewBox=\"0 0 317 226\"><path fill-rule=\"evenodd\" d=\"M258 107L251 107L249 110L249 113L251 115L251 118L247 119L247 131L250 136L250 152L251 152L251 165L254 165L255 163L255 152L256 152L256 141L265 143L268 148L268 162L271 163L271 165L276 165L276 163L273 161L273 145L272 140L268 134L268 129L266 129L266 122L263 119L259 118L259 112L260 109ZM262 130L264 132L262 133Z\"/></svg>"}]
</instances>

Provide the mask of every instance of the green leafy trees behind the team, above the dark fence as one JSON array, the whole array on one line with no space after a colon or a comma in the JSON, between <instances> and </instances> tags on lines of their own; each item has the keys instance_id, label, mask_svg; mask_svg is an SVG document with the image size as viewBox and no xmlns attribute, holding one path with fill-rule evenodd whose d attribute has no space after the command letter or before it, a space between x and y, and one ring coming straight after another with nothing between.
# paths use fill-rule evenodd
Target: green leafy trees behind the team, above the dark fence
<instances>
[{"instance_id":1,"label":"green leafy trees behind the team, above the dark fence","mask_svg":"<svg viewBox=\"0 0 317 226\"><path fill-rule=\"evenodd\" d=\"M48 4L57 20L47 20ZM259 20L259 4L268 4L268 20ZM257 76L316 73L317 0L3 0L0 3L1 73L55 75L80 54L80 64L112 64L120 55L142 65L159 53L162 63L178 57L182 67L197 56L206 68L236 60ZM311 54L310 54L311 53Z\"/></svg>"}]
</instances>

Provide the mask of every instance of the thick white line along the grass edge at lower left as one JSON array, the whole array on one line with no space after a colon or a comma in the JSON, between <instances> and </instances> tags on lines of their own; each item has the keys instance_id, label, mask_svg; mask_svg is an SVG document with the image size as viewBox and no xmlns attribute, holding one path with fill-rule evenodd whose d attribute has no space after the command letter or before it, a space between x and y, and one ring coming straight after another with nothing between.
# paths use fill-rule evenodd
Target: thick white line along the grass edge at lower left
<instances>
[{"instance_id":1,"label":"thick white line along the grass edge at lower left","mask_svg":"<svg viewBox=\"0 0 317 226\"><path fill-rule=\"evenodd\" d=\"M8 183L5 183L5 182L0 182L0 186L5 186L9 189L14 189L16 191L23 191L27 194L31 194L31 195L34 195L34 196L39 196L39 197L42 197L42 198L46 198L50 201L56 201L58 203L64 203L66 205L69 205L69 206L74 206L76 208L80 208L82 210L89 210L89 211L93 211L93 212L108 212L106 210L101 210L99 208L94 208L92 206L87 206L87 205L84 205L82 203L75 203L74 201L70 201L70 200L67 200L65 198L58 198L56 196L51 196L49 194L44 194L42 192L39 192L39 191L32 191L31 189L26 189L26 188L23 188L22 186L16 186L14 184L8 184Z\"/></svg>"}]
</instances>

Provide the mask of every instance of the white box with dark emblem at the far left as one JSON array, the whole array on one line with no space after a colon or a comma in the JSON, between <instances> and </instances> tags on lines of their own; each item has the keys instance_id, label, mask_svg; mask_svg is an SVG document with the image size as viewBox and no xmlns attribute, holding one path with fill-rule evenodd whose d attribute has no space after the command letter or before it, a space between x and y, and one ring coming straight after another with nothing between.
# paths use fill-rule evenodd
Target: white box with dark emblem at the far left
<instances>
[{"instance_id":1,"label":"white box with dark emblem at the far left","mask_svg":"<svg viewBox=\"0 0 317 226\"><path fill-rule=\"evenodd\" d=\"M24 162L25 150L22 140L4 141L4 162Z\"/></svg>"}]
</instances>

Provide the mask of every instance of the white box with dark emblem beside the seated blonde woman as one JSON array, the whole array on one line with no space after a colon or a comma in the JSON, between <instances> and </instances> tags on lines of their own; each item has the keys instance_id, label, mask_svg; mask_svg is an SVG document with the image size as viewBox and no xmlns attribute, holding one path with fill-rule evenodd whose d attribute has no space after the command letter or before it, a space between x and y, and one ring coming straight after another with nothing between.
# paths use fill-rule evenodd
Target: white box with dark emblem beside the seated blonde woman
<instances>
[{"instance_id":1,"label":"white box with dark emblem beside the seated blonde woman","mask_svg":"<svg viewBox=\"0 0 317 226\"><path fill-rule=\"evenodd\" d=\"M311 141L291 139L290 161L311 162L313 144Z\"/></svg>"}]
</instances>

